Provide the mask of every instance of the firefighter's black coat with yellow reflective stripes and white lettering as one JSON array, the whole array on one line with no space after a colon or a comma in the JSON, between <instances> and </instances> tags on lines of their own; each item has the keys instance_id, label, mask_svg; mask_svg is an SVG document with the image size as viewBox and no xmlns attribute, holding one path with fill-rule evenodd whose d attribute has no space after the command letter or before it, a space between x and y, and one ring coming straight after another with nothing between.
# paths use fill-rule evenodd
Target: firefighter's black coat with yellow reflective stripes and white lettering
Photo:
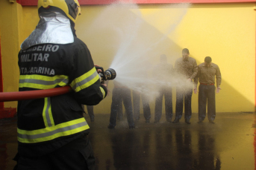
<instances>
[{"instance_id":1,"label":"firefighter's black coat with yellow reflective stripes and white lettering","mask_svg":"<svg viewBox=\"0 0 256 170\"><path fill-rule=\"evenodd\" d=\"M81 104L97 105L107 95L87 45L74 37L66 45L40 44L19 52L19 91L71 86L57 97L18 102L19 154L33 156L88 134ZM37 153L34 153L37 152Z\"/></svg>"}]
</instances>

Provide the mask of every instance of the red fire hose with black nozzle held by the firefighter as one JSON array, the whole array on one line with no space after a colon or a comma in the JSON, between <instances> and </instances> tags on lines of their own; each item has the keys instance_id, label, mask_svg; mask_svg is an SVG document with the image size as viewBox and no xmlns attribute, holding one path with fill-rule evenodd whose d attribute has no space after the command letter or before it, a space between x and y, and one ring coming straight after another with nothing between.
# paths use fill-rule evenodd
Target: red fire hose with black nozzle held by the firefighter
<instances>
[{"instance_id":1,"label":"red fire hose with black nozzle held by the firefighter","mask_svg":"<svg viewBox=\"0 0 256 170\"><path fill-rule=\"evenodd\" d=\"M96 66L97 70L100 70L99 76L102 78L102 83L105 80L115 79L116 71L112 68L104 71L102 67ZM46 90L35 90L35 91L18 91L18 92L1 92L0 102L19 101L24 99L40 99L44 97L55 97L62 94L67 94L72 91L72 88L68 85L60 88L51 88Z\"/></svg>"}]
</instances>

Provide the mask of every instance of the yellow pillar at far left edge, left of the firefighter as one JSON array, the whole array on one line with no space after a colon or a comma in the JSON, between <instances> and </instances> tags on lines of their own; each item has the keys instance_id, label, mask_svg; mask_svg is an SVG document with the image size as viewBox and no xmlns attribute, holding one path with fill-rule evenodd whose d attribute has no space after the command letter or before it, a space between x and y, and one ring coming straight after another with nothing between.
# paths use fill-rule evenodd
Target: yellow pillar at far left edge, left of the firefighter
<instances>
[{"instance_id":1,"label":"yellow pillar at far left edge, left of the firefighter","mask_svg":"<svg viewBox=\"0 0 256 170\"><path fill-rule=\"evenodd\" d=\"M19 88L19 32L22 7L9 1L0 1L1 59L4 92ZM16 108L17 102L4 102L5 108Z\"/></svg>"}]
</instances>

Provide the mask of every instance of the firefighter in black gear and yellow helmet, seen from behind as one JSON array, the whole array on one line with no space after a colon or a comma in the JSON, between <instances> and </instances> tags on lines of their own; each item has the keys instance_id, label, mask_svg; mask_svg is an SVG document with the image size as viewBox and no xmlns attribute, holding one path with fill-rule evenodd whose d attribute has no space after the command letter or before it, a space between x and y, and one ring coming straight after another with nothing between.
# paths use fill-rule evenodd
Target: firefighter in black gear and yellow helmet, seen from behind
<instances>
[{"instance_id":1,"label":"firefighter in black gear and yellow helmet, seen from behind","mask_svg":"<svg viewBox=\"0 0 256 170\"><path fill-rule=\"evenodd\" d=\"M107 96L87 45L75 35L78 0L39 0L40 22L19 52L19 91L69 85L72 93L18 102L14 169L94 169L81 105Z\"/></svg>"}]
</instances>

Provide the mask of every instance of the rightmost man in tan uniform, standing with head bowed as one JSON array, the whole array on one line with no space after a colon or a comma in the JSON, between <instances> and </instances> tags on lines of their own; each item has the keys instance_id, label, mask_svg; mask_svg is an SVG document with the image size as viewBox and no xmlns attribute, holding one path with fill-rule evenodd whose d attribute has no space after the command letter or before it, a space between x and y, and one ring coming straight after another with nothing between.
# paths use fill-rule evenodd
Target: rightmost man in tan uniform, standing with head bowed
<instances>
[{"instance_id":1,"label":"rightmost man in tan uniform, standing with head bowed","mask_svg":"<svg viewBox=\"0 0 256 170\"><path fill-rule=\"evenodd\" d=\"M205 120L206 104L207 104L207 117L209 122L214 123L216 117L215 105L215 89L216 94L219 93L219 87L222 82L222 75L219 71L219 66L211 62L210 56L205 57L205 62L198 66L198 74L196 76L196 88L194 93L197 93L197 82L199 80L199 123ZM216 86L215 87L215 77Z\"/></svg>"}]
</instances>

